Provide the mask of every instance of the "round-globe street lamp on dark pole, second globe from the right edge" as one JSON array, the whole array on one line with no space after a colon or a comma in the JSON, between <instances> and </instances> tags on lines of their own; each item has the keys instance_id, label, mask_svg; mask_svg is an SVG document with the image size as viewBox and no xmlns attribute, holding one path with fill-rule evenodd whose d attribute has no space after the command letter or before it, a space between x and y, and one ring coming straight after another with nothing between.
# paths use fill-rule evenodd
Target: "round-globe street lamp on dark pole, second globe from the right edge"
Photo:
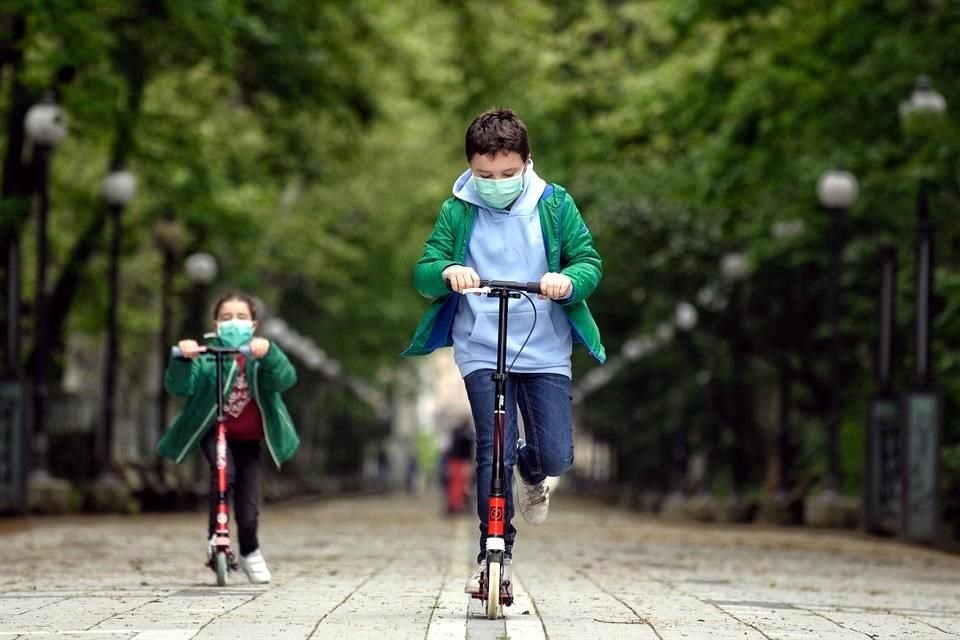
<instances>
[{"instance_id":1,"label":"round-globe street lamp on dark pole, second globe from the right edge","mask_svg":"<svg viewBox=\"0 0 960 640\"><path fill-rule=\"evenodd\" d=\"M840 264L843 259L846 212L857 201L860 187L856 177L849 171L831 169L817 181L817 197L820 204L832 214L830 233L830 272L827 289L827 317L830 322L830 400L827 416L827 483L828 493L840 490L840 458L838 441L840 433Z\"/></svg>"}]
</instances>

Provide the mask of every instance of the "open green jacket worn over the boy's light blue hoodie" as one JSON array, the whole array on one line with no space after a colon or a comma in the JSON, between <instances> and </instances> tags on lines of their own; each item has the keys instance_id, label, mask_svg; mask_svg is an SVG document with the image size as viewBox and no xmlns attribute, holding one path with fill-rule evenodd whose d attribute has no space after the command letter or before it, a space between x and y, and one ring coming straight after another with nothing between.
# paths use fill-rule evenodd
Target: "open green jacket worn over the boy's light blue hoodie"
<instances>
[{"instance_id":1,"label":"open green jacket worn over the boy's light blue hoodie","mask_svg":"<svg viewBox=\"0 0 960 640\"><path fill-rule=\"evenodd\" d=\"M574 339L583 343L594 358L604 362L607 356L600 343L600 330L586 303L603 273L590 231L573 198L568 197L560 185L547 184L537 209L547 264L552 272L563 273L573 281L573 297L560 304L567 313ZM440 208L440 216L414 272L417 291L433 298L433 303L402 355L426 355L453 344L453 316L460 296L451 293L441 274L450 265L463 264L476 217L477 207L458 198L449 198Z\"/></svg>"}]
</instances>

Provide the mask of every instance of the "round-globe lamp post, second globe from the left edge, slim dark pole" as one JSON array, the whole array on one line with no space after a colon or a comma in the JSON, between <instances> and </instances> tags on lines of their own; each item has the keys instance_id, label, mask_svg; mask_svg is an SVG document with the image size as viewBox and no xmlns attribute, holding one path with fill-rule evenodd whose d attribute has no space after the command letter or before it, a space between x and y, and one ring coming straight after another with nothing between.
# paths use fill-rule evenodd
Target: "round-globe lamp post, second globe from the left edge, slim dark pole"
<instances>
[{"instance_id":1,"label":"round-globe lamp post, second globe from the left edge, slim dark pole","mask_svg":"<svg viewBox=\"0 0 960 640\"><path fill-rule=\"evenodd\" d=\"M103 181L102 195L110 207L110 267L107 298L107 354L103 384L103 420L99 446L101 477L113 474L114 387L117 375L118 330L120 306L120 239L123 232L123 209L137 193L137 179L129 171L116 167Z\"/></svg>"}]
</instances>

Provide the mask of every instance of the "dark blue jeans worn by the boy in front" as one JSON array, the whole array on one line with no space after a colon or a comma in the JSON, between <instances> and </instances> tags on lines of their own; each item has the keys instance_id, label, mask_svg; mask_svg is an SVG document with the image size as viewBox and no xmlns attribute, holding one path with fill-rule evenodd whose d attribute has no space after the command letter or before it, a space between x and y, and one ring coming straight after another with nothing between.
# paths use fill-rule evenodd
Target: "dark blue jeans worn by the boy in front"
<instances>
[{"instance_id":1,"label":"dark blue jeans worn by the boy in front","mask_svg":"<svg viewBox=\"0 0 960 640\"><path fill-rule=\"evenodd\" d=\"M486 555L487 503L493 475L493 369L474 371L463 379L477 430L477 515L480 517L480 554ZM517 406L523 416L525 446L517 450ZM573 405L570 378L554 373L511 373L507 378L503 460L506 471L506 555L513 553L517 530L513 526L513 468L528 484L560 476L573 464Z\"/></svg>"}]
</instances>

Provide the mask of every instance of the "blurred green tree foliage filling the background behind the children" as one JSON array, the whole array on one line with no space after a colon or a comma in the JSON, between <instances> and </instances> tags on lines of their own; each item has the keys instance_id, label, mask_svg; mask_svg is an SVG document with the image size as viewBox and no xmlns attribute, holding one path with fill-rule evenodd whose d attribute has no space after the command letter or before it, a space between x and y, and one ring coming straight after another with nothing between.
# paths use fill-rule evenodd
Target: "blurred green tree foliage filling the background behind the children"
<instances>
[{"instance_id":1,"label":"blurred green tree foliage filling the background behind the children","mask_svg":"<svg viewBox=\"0 0 960 640\"><path fill-rule=\"evenodd\" d=\"M2 68L0 107L13 108L17 80L34 97L58 87L70 115L53 162L55 273L98 224L99 181L129 129L140 191L125 213L126 358L159 326L153 225L172 215L188 231L181 256L217 256L217 288L261 296L352 373L402 366L396 354L425 305L413 263L465 164L463 131L504 104L604 256L591 307L608 351L671 321L681 299L700 306L695 365L667 347L624 367L585 409L631 481L662 479L644 469L662 471L690 405L691 428L718 420L721 451L743 447L751 482L762 482L780 373L793 383L796 475L822 465L835 227L815 185L836 164L860 181L839 280L847 488L861 465L884 243L900 256L898 386L910 377L921 186L937 224L934 353L948 450L960 441L957 3L45 0L0 12L27 19L25 62L16 78ZM919 74L945 95L947 114L901 123ZM12 199L0 212L23 217ZM799 233L779 234L784 225ZM71 330L102 326L103 250L84 262ZM734 250L750 263L739 307L699 303L705 289L733 299L718 265ZM188 295L184 275L176 288ZM740 435L749 442L731 436L732 358L754 390L756 420ZM587 366L578 358L578 376ZM709 393L691 381L703 372Z\"/></svg>"}]
</instances>

